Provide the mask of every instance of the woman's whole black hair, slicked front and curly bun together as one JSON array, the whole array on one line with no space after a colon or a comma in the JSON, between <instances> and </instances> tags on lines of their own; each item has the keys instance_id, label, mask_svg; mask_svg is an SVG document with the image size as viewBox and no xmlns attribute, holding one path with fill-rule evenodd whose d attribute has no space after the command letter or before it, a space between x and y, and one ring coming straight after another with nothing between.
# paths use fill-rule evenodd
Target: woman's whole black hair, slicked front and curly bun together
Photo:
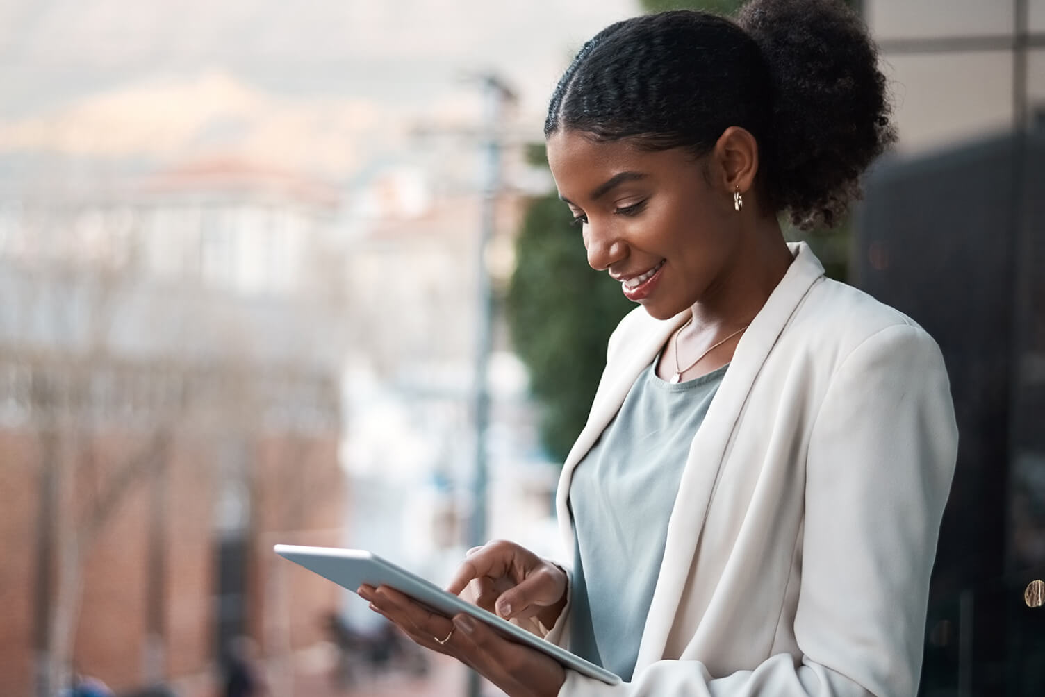
<instances>
[{"instance_id":1,"label":"woman's whole black hair, slicked front and curly bun together","mask_svg":"<svg viewBox=\"0 0 1045 697\"><path fill-rule=\"evenodd\" d=\"M860 17L836 0L751 0L736 22L674 10L612 24L577 53L544 136L578 130L710 151L728 126L759 143L760 186L799 227L830 227L896 140Z\"/></svg>"}]
</instances>

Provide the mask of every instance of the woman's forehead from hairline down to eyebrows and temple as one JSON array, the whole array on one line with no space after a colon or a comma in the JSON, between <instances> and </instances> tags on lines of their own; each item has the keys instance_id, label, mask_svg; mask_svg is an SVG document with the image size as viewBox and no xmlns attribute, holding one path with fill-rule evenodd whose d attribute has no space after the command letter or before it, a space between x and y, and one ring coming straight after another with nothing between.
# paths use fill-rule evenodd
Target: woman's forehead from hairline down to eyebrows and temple
<instances>
[{"instance_id":1,"label":"woman's forehead from hairline down to eyebrows and temple","mask_svg":"<svg viewBox=\"0 0 1045 697\"><path fill-rule=\"evenodd\" d=\"M575 202L621 172L637 172L651 184L682 184L699 175L699 164L681 148L651 151L628 139L600 142L576 130L552 134L547 146L559 194Z\"/></svg>"}]
</instances>

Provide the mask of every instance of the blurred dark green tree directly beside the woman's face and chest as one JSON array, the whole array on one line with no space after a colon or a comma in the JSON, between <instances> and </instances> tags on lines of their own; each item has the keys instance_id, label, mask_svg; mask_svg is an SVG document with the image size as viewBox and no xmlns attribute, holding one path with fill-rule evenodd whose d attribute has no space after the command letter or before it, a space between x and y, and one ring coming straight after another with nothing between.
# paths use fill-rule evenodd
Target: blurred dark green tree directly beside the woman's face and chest
<instances>
[{"instance_id":1,"label":"blurred dark green tree directly beside the woman's face and chest","mask_svg":"<svg viewBox=\"0 0 1045 697\"><path fill-rule=\"evenodd\" d=\"M548 166L543 144L534 166ZM516 240L506 312L515 350L530 369L541 437L561 461L587 418L606 359L606 340L634 307L620 284L587 265L580 227L552 191L535 198Z\"/></svg>"}]
</instances>

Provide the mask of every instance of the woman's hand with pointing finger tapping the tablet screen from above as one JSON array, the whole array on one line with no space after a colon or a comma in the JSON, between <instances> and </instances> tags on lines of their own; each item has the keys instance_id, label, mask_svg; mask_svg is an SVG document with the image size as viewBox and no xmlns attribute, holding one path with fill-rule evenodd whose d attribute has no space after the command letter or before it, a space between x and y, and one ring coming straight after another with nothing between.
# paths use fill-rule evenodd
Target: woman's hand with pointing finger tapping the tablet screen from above
<instances>
[{"instance_id":1,"label":"woman's hand with pointing finger tapping the tablet screen from above","mask_svg":"<svg viewBox=\"0 0 1045 697\"><path fill-rule=\"evenodd\" d=\"M502 618L536 617L545 628L566 604L566 574L530 550L502 539L468 550L446 587L455 595L470 586L475 604Z\"/></svg>"}]
</instances>

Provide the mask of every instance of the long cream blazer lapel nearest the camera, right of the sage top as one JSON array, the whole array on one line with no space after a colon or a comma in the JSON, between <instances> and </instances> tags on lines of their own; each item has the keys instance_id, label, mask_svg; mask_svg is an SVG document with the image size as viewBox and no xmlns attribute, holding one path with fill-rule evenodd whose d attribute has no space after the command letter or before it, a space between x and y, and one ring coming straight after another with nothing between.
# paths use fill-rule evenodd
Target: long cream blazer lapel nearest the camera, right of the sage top
<instances>
[{"instance_id":1,"label":"long cream blazer lapel nearest the camera, right of the sage top","mask_svg":"<svg viewBox=\"0 0 1045 697\"><path fill-rule=\"evenodd\" d=\"M784 279L741 337L729 368L690 447L668 523L665 555L643 632L636 672L665 657L675 609L684 592L719 468L741 409L759 370L792 313L817 279L823 275L823 267L804 242L789 246L792 254L797 253L795 261L788 267ZM629 384L635 376L629 378ZM623 376L620 382L624 382ZM622 393L621 400L623 399Z\"/></svg>"}]
</instances>

